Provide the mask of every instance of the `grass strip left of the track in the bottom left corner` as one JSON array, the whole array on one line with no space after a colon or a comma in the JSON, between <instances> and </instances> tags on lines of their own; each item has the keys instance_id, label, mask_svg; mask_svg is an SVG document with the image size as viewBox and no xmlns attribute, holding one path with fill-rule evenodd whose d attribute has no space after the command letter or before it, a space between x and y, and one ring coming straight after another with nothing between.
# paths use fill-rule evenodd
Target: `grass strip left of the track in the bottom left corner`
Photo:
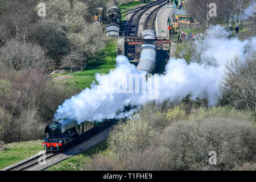
<instances>
[{"instance_id":1,"label":"grass strip left of the track in the bottom left corner","mask_svg":"<svg viewBox=\"0 0 256 182\"><path fill-rule=\"evenodd\" d=\"M41 140L9 143L5 147L6 150L0 151L0 169L27 159L44 149Z\"/></svg>"}]
</instances>

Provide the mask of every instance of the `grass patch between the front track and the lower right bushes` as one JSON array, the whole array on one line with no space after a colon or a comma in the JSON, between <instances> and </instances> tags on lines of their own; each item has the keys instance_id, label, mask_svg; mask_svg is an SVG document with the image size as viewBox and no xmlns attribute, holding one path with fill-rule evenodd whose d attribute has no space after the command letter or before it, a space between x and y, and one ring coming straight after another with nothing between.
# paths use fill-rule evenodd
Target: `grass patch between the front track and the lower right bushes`
<instances>
[{"instance_id":1,"label":"grass patch between the front track and the lower right bushes","mask_svg":"<svg viewBox=\"0 0 256 182\"><path fill-rule=\"evenodd\" d=\"M106 150L106 142L101 142L97 146L93 146L89 150L82 152L79 155L72 156L62 162L55 164L47 168L47 171L79 171L84 167L85 162L92 160L93 155L106 155L108 151Z\"/></svg>"}]
</instances>

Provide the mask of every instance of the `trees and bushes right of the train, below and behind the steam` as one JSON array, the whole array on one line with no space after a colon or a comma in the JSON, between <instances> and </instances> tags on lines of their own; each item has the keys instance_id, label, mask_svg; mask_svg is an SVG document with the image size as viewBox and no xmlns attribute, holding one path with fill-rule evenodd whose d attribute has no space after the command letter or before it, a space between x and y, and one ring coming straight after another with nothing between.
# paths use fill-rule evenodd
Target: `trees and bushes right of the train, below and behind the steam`
<instances>
[{"instance_id":1,"label":"trees and bushes right of the train, below and behind the steam","mask_svg":"<svg viewBox=\"0 0 256 182\"><path fill-rule=\"evenodd\" d=\"M205 31L197 43L180 43L175 57L202 63L207 46L197 48L207 37ZM84 160L82 169L255 171L255 57L252 52L245 60L227 61L214 106L189 95L181 101L148 102L114 127L106 150ZM216 165L209 165L209 151L216 152Z\"/></svg>"}]
</instances>

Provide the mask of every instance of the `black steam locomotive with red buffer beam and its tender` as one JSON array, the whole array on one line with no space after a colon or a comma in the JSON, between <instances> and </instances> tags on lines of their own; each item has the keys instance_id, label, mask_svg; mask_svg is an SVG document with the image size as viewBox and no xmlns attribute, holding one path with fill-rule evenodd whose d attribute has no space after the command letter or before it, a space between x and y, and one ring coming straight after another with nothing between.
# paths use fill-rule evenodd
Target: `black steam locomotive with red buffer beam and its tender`
<instances>
[{"instance_id":1,"label":"black steam locomotive with red buffer beam and its tender","mask_svg":"<svg viewBox=\"0 0 256 182\"><path fill-rule=\"evenodd\" d=\"M77 121L69 118L53 122L44 130L44 133L47 133L47 137L43 140L44 149L47 152L65 150L115 122L116 119L108 119L103 122L84 121L78 125Z\"/></svg>"}]
</instances>

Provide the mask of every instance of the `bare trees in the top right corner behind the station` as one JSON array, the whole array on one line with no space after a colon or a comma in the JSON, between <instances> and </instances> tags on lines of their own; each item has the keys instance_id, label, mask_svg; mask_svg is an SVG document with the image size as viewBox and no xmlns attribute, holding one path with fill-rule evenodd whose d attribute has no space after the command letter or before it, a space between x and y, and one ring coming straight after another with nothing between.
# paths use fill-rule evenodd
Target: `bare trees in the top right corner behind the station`
<instances>
[{"instance_id":1,"label":"bare trees in the top right corner behind the station","mask_svg":"<svg viewBox=\"0 0 256 182\"><path fill-rule=\"evenodd\" d=\"M209 16L213 8L209 6L210 3L216 4L216 16ZM255 29L255 16L251 16L254 15L253 3L251 0L187 0L186 6L188 13L206 27L210 23L234 23L240 26L246 20Z\"/></svg>"}]
</instances>

